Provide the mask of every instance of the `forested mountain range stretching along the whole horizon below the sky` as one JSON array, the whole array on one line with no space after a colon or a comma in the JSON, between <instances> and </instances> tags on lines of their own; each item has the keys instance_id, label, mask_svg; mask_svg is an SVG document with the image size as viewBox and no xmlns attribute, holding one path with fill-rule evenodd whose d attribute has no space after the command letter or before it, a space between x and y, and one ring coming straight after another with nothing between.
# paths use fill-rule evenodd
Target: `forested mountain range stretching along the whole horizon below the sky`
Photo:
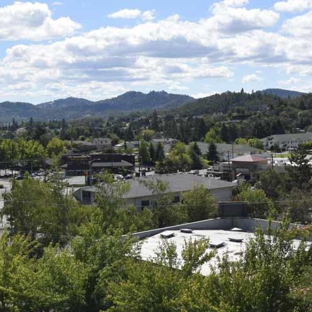
<instances>
[{"instance_id":1,"label":"forested mountain range stretching along the whole horizon below the sky","mask_svg":"<svg viewBox=\"0 0 312 312\"><path fill-rule=\"evenodd\" d=\"M0 103L0 122L10 122L14 118L17 121L29 120L31 117L37 121L52 119L78 119L87 116L108 116L112 114L129 113L131 111L151 111L154 109L170 109L175 113L188 115L200 115L225 112L235 107L243 107L251 110L261 110L269 102L275 102L274 96L281 98L296 98L303 93L282 89L266 89L261 93L265 99L264 104L261 97L250 98L248 93L244 97L225 92L215 94L206 98L195 100L188 95L170 94L165 91L151 91L147 94L130 91L112 99L102 101L89 101L82 98L69 97L38 105L23 102ZM235 99L237 97L237 99ZM252 99L252 101L250 101Z\"/></svg>"}]
</instances>

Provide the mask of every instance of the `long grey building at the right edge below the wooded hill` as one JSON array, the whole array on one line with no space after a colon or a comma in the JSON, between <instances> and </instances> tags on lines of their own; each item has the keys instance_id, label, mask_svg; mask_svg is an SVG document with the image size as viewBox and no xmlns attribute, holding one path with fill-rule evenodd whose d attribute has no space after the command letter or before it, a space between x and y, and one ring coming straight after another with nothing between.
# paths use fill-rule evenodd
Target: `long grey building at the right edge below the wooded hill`
<instances>
[{"instance_id":1,"label":"long grey building at the right edge below the wooded hill","mask_svg":"<svg viewBox=\"0 0 312 312\"><path fill-rule=\"evenodd\" d=\"M278 147L281 151L296 150L300 144L312 141L312 132L275 134L261 139L265 150Z\"/></svg>"}]
</instances>

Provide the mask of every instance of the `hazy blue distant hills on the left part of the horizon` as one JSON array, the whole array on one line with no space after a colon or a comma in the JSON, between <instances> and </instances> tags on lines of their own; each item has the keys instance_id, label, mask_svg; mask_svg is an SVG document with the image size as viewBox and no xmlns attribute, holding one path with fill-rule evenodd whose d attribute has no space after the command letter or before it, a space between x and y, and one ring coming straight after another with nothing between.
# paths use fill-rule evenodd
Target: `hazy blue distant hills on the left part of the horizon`
<instances>
[{"instance_id":1,"label":"hazy blue distant hills on the left part of the horizon","mask_svg":"<svg viewBox=\"0 0 312 312\"><path fill-rule=\"evenodd\" d=\"M127 92L112 99L89 101L81 98L69 97L38 105L29 103L0 103L0 122L16 120L75 119L86 116L109 115L112 113L146 111L153 109L173 108L194 101L187 95L170 94L152 91Z\"/></svg>"}]
</instances>

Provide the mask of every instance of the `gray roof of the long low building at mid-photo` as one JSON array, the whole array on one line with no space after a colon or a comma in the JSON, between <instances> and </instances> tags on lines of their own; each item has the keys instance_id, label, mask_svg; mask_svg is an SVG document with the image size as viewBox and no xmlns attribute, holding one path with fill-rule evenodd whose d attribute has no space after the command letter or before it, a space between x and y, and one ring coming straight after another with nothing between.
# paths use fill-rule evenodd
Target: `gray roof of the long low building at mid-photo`
<instances>
[{"instance_id":1,"label":"gray roof of the long low building at mid-photo","mask_svg":"<svg viewBox=\"0 0 312 312\"><path fill-rule=\"evenodd\" d=\"M187 173L153 175L127 181L130 183L130 190L123 196L123 198L140 198L154 195L153 192L144 185L144 181L157 182L157 180L167 182L169 191L173 193L187 192L190 191L194 186L201 185L209 190L233 188L235 186L231 182L214 178L200 177ZM87 187L83 188L83 190L87 192L97 192L96 187Z\"/></svg>"}]
</instances>

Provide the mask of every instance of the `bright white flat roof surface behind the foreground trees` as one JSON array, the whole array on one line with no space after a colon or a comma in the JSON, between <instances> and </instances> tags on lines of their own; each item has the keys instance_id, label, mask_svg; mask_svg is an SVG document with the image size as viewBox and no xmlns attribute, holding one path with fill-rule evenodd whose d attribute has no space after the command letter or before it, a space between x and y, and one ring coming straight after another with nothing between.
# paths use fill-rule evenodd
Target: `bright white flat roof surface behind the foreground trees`
<instances>
[{"instance_id":1,"label":"bright white flat roof surface behind the foreground trees","mask_svg":"<svg viewBox=\"0 0 312 312\"><path fill-rule=\"evenodd\" d=\"M174 236L170 238L163 238L162 235L168 235L174 234ZM242 242L235 242L230 241L231 239L234 240L242 240ZM162 246L163 241L169 241L173 242L177 249L178 254L178 260L179 260L179 268L183 265L182 260L182 250L183 246L185 245L185 242L192 239L200 240L200 239L209 239L209 244L222 244L224 243L223 247L216 249L216 255L207 263L205 263L203 266L201 266L198 273L202 275L209 275L211 272L211 267L216 268L217 267L217 258L218 256L222 258L226 253L229 255L230 261L239 261L241 259L242 254L244 253L246 249L246 242L248 242L250 239L255 238L254 233L248 233L248 232L240 232L237 230L231 230L231 231L224 231L224 230L193 230L191 234L188 233L182 233L180 230L174 230L174 231L164 231L160 234L156 234L154 236L151 236L149 238L146 238L145 240L141 241L141 258L142 260L146 261L153 261L155 262L157 257L157 250L159 250L159 247ZM294 248L298 248L300 244L300 240L294 240L293 246ZM207 252L210 252L212 250L215 250L215 248L209 247L207 249Z\"/></svg>"}]
</instances>

